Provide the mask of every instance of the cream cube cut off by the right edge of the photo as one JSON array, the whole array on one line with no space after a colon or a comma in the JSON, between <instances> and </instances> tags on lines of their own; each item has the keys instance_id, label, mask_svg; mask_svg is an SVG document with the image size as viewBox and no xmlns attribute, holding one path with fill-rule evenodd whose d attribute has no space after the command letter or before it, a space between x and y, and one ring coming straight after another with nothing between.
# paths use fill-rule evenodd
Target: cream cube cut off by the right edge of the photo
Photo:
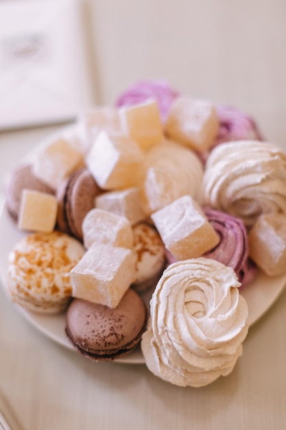
<instances>
[{"instance_id":1,"label":"cream cube cut off by the right edge of the photo","mask_svg":"<svg viewBox=\"0 0 286 430\"><path fill-rule=\"evenodd\" d=\"M248 234L250 258L268 276L286 273L286 216L261 215Z\"/></svg>"}]
</instances>

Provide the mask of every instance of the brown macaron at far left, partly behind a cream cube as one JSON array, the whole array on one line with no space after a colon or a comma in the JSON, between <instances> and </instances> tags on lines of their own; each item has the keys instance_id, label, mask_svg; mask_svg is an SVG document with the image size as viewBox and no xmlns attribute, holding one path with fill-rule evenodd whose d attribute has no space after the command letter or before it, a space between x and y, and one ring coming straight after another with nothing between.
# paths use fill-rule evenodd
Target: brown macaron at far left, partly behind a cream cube
<instances>
[{"instance_id":1,"label":"brown macaron at far left, partly behind a cream cube","mask_svg":"<svg viewBox=\"0 0 286 430\"><path fill-rule=\"evenodd\" d=\"M18 220L23 190L54 194L48 185L35 177L32 172L32 164L23 163L14 168L7 180L6 208L15 222Z\"/></svg>"}]
</instances>

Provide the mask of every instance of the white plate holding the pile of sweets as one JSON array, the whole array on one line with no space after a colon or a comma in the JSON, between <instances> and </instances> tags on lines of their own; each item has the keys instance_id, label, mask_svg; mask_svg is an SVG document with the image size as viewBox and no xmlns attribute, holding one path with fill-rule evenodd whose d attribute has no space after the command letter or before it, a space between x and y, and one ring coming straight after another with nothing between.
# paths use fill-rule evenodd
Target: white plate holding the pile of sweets
<instances>
[{"instance_id":1,"label":"white plate holding the pile of sweets","mask_svg":"<svg viewBox=\"0 0 286 430\"><path fill-rule=\"evenodd\" d=\"M12 220L8 216L5 208L2 210L0 216L0 273L2 277L2 285L5 289L5 273L7 267L8 253L14 247L25 233L16 229ZM280 295L281 291L285 287L286 275L278 276L276 278L269 278L264 273L259 271L252 281L251 284L245 288L241 288L241 294L245 297L248 303L248 322L250 325L254 324L266 311L272 306L272 304ZM150 297L143 297L145 302ZM32 326L43 333L43 335L49 337L53 341L60 343L60 345L70 350L75 350L69 339L64 332L65 328L65 314L60 315L40 315L37 313L25 310L21 306L16 306L23 317L29 321ZM142 364L144 363L143 355L140 348L134 350L126 357L117 359L119 363L129 364Z\"/></svg>"}]
</instances>

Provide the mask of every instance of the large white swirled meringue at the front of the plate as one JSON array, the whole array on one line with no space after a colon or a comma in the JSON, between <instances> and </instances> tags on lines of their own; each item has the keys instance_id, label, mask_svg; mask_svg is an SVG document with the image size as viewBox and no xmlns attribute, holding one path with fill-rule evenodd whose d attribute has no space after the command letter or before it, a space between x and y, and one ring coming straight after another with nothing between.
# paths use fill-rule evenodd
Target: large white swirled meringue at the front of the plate
<instances>
[{"instance_id":1,"label":"large white swirled meringue at the front of the plate","mask_svg":"<svg viewBox=\"0 0 286 430\"><path fill-rule=\"evenodd\" d=\"M153 293L141 349L151 372L201 387L228 375L248 332L248 307L235 272L215 260L171 264Z\"/></svg>"}]
</instances>

